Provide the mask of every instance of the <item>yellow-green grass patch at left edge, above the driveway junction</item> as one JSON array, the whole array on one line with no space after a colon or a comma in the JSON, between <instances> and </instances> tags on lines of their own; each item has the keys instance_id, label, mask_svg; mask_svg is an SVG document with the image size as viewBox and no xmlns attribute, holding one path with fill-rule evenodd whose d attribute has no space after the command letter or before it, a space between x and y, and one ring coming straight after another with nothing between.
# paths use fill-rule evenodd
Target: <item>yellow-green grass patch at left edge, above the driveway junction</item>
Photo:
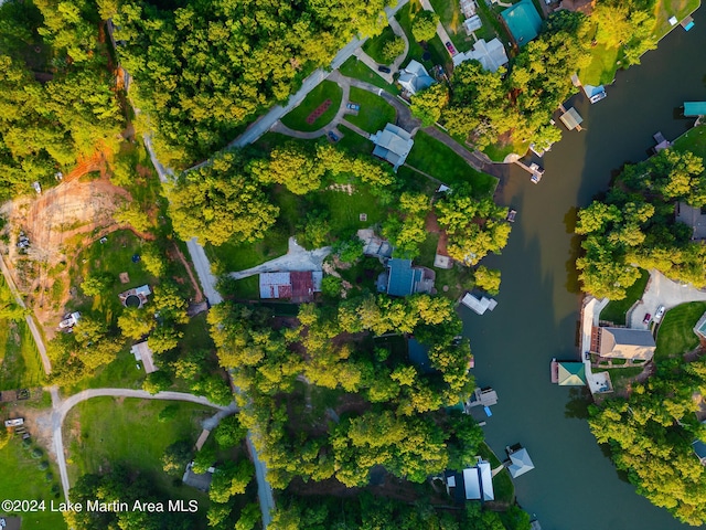
<instances>
[{"instance_id":1,"label":"yellow-green grass patch at left edge, above the driveway junction","mask_svg":"<svg viewBox=\"0 0 706 530\"><path fill-rule=\"evenodd\" d=\"M0 390L41 386L44 368L26 321L0 320Z\"/></svg>"}]
</instances>

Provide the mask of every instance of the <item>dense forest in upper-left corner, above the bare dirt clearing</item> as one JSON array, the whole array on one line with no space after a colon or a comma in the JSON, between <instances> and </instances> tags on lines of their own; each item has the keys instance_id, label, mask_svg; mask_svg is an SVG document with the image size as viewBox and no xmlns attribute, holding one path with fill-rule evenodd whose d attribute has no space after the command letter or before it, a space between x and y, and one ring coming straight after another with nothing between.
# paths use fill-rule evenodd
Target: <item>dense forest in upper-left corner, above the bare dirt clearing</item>
<instances>
[{"instance_id":1,"label":"dense forest in upper-left corner, above the bare dirt clearing","mask_svg":"<svg viewBox=\"0 0 706 530\"><path fill-rule=\"evenodd\" d=\"M99 21L92 1L0 6L0 199L117 151L125 116Z\"/></svg>"}]
</instances>

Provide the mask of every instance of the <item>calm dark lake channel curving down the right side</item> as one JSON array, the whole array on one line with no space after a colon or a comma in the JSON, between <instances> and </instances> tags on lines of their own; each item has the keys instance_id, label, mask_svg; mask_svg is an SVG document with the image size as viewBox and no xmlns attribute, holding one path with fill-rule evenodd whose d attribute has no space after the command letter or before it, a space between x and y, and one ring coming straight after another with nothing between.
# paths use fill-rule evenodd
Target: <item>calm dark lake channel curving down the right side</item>
<instances>
[{"instance_id":1,"label":"calm dark lake channel curving down the right side","mask_svg":"<svg viewBox=\"0 0 706 530\"><path fill-rule=\"evenodd\" d=\"M676 28L642 65L618 74L597 105L577 98L586 130L564 134L532 184L513 169L502 200L518 212L510 244L489 265L502 271L499 306L482 317L463 309L480 385L500 402L485 427L499 456L522 443L536 469L515 480L520 504L544 530L672 530L689 528L653 507L623 481L601 453L573 392L549 382L549 361L578 358L579 297L571 235L577 206L607 188L611 172L640 161L661 130L673 139L691 126L677 118L684 100L706 99L706 10L691 32Z\"/></svg>"}]
</instances>

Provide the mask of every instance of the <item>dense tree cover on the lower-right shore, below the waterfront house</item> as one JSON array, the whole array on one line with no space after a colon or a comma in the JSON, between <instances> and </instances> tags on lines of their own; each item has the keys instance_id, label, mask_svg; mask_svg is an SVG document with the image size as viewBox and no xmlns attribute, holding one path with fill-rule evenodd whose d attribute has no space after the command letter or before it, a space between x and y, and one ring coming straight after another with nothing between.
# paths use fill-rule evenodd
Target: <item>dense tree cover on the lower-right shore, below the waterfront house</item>
<instances>
[{"instance_id":1,"label":"dense tree cover on the lower-right shore, below the waterfront house","mask_svg":"<svg viewBox=\"0 0 706 530\"><path fill-rule=\"evenodd\" d=\"M706 441L696 418L695 396L706 391L706 361L657 364L656 374L634 384L628 400L612 399L589 409L589 425L627 474L638 494L681 521L706 522L706 470L692 443Z\"/></svg>"}]
</instances>

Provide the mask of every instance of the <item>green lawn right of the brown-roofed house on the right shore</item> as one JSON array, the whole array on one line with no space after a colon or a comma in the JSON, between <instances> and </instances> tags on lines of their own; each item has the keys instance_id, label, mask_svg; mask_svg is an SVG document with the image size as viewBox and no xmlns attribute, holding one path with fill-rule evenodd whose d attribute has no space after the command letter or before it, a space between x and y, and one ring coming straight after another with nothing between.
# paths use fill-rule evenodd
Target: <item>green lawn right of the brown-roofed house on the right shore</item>
<instances>
[{"instance_id":1,"label":"green lawn right of the brown-roofed house on the right shore","mask_svg":"<svg viewBox=\"0 0 706 530\"><path fill-rule=\"evenodd\" d=\"M694 326L706 311L706 303L692 301L670 309L657 331L655 359L681 356L698 346Z\"/></svg>"}]
</instances>

